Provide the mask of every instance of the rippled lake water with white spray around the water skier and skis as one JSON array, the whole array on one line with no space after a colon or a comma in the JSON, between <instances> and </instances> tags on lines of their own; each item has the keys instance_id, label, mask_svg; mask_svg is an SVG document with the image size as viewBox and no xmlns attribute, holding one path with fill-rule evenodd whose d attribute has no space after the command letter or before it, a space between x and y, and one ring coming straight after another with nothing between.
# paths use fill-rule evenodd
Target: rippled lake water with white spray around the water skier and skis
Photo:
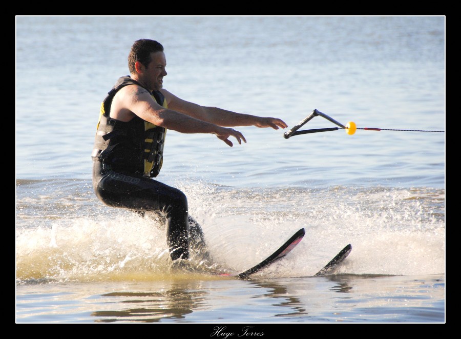
<instances>
[{"instance_id":1,"label":"rippled lake water with white spray around the water skier and skis","mask_svg":"<svg viewBox=\"0 0 461 339\"><path fill-rule=\"evenodd\" d=\"M305 228L249 281L172 272L162 225L92 191L99 106L139 38L163 44L164 88L187 101L288 129L314 109L385 129L241 127L232 148L167 133L157 179L186 193L217 262L246 270ZM265 337L270 323L445 323L444 131L443 16L17 16L16 322Z\"/></svg>"}]
</instances>

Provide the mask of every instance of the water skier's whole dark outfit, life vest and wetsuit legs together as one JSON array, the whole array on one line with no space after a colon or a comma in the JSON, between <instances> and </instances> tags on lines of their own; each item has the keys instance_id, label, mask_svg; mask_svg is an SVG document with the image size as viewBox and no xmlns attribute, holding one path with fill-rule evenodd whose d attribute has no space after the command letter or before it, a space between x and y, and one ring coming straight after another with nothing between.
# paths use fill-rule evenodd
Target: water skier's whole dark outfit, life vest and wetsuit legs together
<instances>
[{"instance_id":1,"label":"water skier's whole dark outfit, life vest and wetsuit legs together","mask_svg":"<svg viewBox=\"0 0 461 339\"><path fill-rule=\"evenodd\" d=\"M138 116L127 123L109 116L115 93L133 84L143 87L129 76L119 78L101 105L92 153L93 189L107 206L163 215L172 260L187 259L189 232L197 245L203 242L201 228L188 216L185 194L153 179L162 165L166 130ZM159 91L154 91L152 96L159 105L166 107Z\"/></svg>"}]
</instances>

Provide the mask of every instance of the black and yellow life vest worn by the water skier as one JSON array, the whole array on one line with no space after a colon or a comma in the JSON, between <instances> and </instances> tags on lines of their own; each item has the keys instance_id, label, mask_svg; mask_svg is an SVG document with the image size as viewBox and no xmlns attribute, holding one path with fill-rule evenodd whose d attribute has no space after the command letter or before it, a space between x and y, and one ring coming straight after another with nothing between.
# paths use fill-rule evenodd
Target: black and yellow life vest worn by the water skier
<instances>
[{"instance_id":1,"label":"black and yellow life vest worn by the water skier","mask_svg":"<svg viewBox=\"0 0 461 339\"><path fill-rule=\"evenodd\" d=\"M93 161L110 164L115 171L156 177L163 163L166 128L144 121L137 115L126 123L110 117L115 93L128 85L145 88L130 76L118 79L101 104L91 157ZM149 92L159 105L167 107L165 97L160 91Z\"/></svg>"}]
</instances>

